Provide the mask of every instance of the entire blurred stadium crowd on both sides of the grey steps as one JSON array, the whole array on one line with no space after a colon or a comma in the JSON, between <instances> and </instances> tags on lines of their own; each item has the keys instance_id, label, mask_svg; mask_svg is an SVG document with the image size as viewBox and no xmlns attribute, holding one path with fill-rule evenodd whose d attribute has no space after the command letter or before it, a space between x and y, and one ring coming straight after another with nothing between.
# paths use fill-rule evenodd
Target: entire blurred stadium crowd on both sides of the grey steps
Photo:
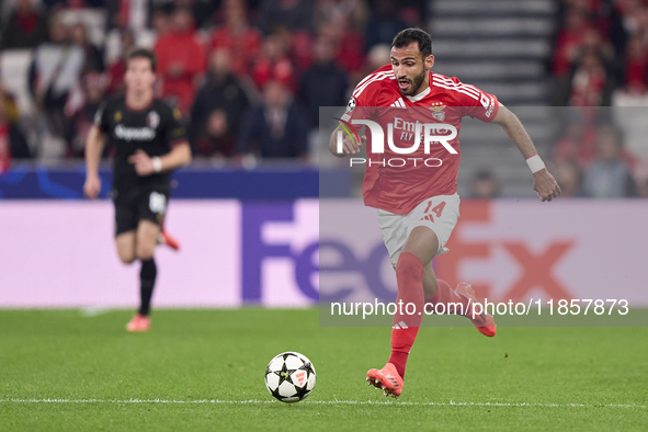
<instances>
[{"instance_id":1,"label":"entire blurred stadium crowd on both sides of the grey steps","mask_svg":"<svg viewBox=\"0 0 648 432\"><path fill-rule=\"evenodd\" d=\"M648 105L648 2L556 1L553 104L583 107L553 148L564 195L648 196L640 134L595 114ZM30 50L33 110L22 113L0 86L0 172L12 159L81 158L98 106L123 90L133 46L156 52L158 92L183 114L194 156L308 163L319 106L345 105L355 83L389 61L398 31L427 27L431 3L4 0L0 55ZM485 181L496 180L476 173Z\"/></svg>"}]
</instances>

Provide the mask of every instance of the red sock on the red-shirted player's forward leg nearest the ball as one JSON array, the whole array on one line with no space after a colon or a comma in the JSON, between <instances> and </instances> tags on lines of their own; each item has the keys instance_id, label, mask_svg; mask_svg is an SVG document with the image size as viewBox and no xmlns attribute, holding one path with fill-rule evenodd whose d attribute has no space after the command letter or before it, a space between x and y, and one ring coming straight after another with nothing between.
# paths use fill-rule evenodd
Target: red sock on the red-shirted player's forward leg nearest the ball
<instances>
[{"instance_id":1,"label":"red sock on the red-shirted player's forward leg nearest the ball","mask_svg":"<svg viewBox=\"0 0 648 432\"><path fill-rule=\"evenodd\" d=\"M398 306L399 309L394 316L391 356L389 356L388 363L396 366L396 371L401 377L405 376L407 356L417 339L423 319L423 306L425 305L423 273L423 264L417 255L409 252L400 254L396 264L396 282L398 284L396 304L402 306ZM414 305L416 309L410 306L406 310L408 304Z\"/></svg>"}]
</instances>

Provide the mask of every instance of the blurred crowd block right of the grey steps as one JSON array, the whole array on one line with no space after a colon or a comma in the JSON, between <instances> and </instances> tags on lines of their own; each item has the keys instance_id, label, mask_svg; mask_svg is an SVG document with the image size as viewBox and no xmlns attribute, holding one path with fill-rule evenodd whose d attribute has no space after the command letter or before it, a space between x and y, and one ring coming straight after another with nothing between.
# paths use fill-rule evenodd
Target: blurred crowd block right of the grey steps
<instances>
[{"instance_id":1,"label":"blurred crowd block right of the grey steps","mask_svg":"<svg viewBox=\"0 0 648 432\"><path fill-rule=\"evenodd\" d=\"M562 1L557 22L554 104L575 107L552 155L564 195L647 197L648 2Z\"/></svg>"}]
</instances>

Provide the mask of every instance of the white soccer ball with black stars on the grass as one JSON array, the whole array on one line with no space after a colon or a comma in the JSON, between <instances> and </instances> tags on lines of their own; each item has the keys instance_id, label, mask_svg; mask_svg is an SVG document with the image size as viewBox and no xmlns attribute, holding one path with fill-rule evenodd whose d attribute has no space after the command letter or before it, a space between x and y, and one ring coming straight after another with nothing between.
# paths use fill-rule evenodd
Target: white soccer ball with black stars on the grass
<instances>
[{"instance_id":1,"label":"white soccer ball with black stars on the grass","mask_svg":"<svg viewBox=\"0 0 648 432\"><path fill-rule=\"evenodd\" d=\"M315 387L315 367L304 354L283 352L268 364L265 387L282 402L298 402Z\"/></svg>"}]
</instances>

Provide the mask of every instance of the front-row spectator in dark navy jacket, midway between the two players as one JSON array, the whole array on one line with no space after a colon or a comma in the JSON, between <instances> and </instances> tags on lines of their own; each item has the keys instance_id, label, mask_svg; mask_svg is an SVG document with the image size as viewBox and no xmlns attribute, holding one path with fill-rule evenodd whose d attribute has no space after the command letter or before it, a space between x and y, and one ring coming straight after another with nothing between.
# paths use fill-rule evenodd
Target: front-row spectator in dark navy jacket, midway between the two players
<instances>
[{"instance_id":1,"label":"front-row spectator in dark navy jacket, midway between the two players","mask_svg":"<svg viewBox=\"0 0 648 432\"><path fill-rule=\"evenodd\" d=\"M238 154L261 158L305 158L308 128L302 111L288 90L270 81L263 91L263 104L248 111L241 125Z\"/></svg>"}]
</instances>

